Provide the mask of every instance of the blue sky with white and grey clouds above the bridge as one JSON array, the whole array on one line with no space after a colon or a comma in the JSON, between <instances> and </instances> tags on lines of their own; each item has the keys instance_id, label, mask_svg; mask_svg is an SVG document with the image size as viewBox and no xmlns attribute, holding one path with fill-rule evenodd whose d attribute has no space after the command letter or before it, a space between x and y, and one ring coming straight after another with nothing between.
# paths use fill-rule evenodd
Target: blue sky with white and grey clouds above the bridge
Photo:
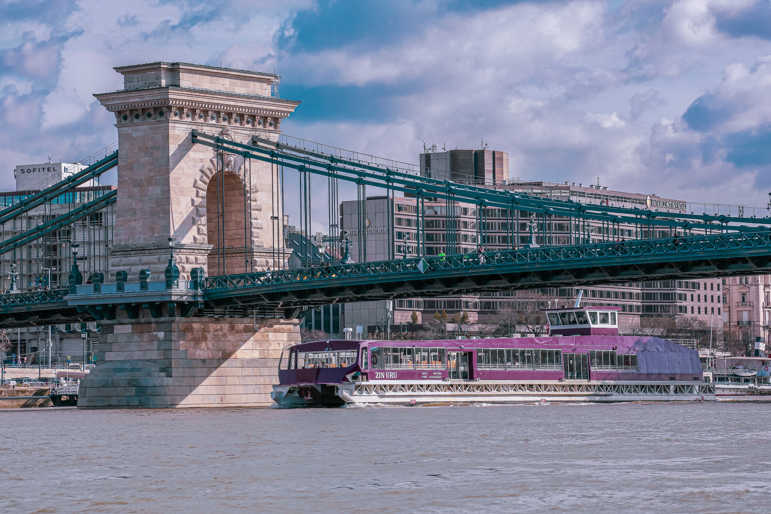
<instances>
[{"instance_id":1,"label":"blue sky with white and grey clouds above the bridge","mask_svg":"<svg viewBox=\"0 0 771 514\"><path fill-rule=\"evenodd\" d=\"M0 0L0 188L117 139L113 66L272 72L285 133L416 162L510 154L510 174L765 207L769 0Z\"/></svg>"}]
</instances>

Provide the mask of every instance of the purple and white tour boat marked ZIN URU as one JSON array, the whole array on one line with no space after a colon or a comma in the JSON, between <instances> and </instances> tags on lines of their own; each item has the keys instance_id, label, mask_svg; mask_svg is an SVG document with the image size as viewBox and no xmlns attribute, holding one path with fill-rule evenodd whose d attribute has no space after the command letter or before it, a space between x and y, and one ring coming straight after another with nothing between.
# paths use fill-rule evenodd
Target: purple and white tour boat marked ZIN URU
<instances>
[{"instance_id":1,"label":"purple and white tour boat marked ZIN URU","mask_svg":"<svg viewBox=\"0 0 771 514\"><path fill-rule=\"evenodd\" d=\"M544 337L293 344L271 397L287 406L715 400L698 351L619 336L617 311L548 309Z\"/></svg>"}]
</instances>

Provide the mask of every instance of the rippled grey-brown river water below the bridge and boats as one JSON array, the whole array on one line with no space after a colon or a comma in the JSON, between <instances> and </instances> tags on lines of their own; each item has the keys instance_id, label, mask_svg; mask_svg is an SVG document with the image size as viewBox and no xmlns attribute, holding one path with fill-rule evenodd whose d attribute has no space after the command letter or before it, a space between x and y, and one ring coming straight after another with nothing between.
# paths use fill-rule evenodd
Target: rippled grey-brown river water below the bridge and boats
<instances>
[{"instance_id":1,"label":"rippled grey-brown river water below the bridge and boats","mask_svg":"<svg viewBox=\"0 0 771 514\"><path fill-rule=\"evenodd\" d=\"M769 512L771 404L0 412L0 512Z\"/></svg>"}]
</instances>

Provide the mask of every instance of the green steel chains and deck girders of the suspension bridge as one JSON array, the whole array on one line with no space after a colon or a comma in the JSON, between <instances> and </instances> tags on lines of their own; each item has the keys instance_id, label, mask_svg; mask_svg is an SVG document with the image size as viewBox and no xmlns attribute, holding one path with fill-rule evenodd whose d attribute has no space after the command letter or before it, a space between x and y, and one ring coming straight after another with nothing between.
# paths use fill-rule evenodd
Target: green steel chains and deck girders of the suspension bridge
<instances>
[{"instance_id":1,"label":"green steel chains and deck girders of the suspension bridge","mask_svg":"<svg viewBox=\"0 0 771 514\"><path fill-rule=\"evenodd\" d=\"M771 273L771 233L763 226L763 223L771 223L769 217L671 213L553 200L437 180L258 137L247 145L194 130L191 138L193 143L234 153L244 160L260 160L300 172L409 193L418 198L607 223L676 227L691 233L704 231L704 235L691 237L534 247L207 277L200 284L204 301L198 311L251 306L277 311L289 309L296 314L298 307L352 301ZM0 221L18 217L109 170L116 163L117 153L113 153L67 180L0 211ZM12 250L89 216L115 199L114 191L99 197L5 241L2 251ZM114 312L110 294L105 294L103 306L96 304L84 309L70 305L68 293L69 290L60 289L0 295L0 328L93 321L95 318L89 313ZM198 312L185 311L190 315Z\"/></svg>"}]
</instances>

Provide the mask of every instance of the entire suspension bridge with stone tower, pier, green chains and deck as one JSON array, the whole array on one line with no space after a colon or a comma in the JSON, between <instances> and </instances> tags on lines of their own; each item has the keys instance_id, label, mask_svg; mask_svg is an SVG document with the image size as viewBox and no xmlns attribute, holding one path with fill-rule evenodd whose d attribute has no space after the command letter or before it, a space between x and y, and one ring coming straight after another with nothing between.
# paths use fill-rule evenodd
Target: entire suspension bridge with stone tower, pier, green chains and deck
<instances>
[{"instance_id":1,"label":"entire suspension bridge with stone tower, pier, green chains and deck","mask_svg":"<svg viewBox=\"0 0 771 514\"><path fill-rule=\"evenodd\" d=\"M299 341L298 316L323 304L771 273L769 217L578 203L456 183L395 161L282 142L281 120L299 102L275 96L271 74L168 62L116 71L124 89L96 97L116 116L119 149L0 211L0 223L12 223L117 166L115 190L2 242L3 254L23 254L35 240L115 209L109 264L81 270L71 244L62 287L0 295L0 328L100 322L99 365L84 381L81 407L268 405L280 350ZM281 223L290 174L300 183L308 233L312 200L329 210L330 237L343 245L338 262L288 267ZM311 176L326 180L326 194ZM362 207L367 186L415 200L415 257L397 258L389 248L389 259L368 261L360 215L359 261L352 259L348 233L333 230L341 182L355 186ZM428 255L427 201L446 204L448 240L456 207L471 205L479 240L487 213L500 210L510 220L526 216L529 244L511 237L507 248L448 244L446 255ZM571 244L540 246L533 227L554 217L569 220ZM602 227L604 242L589 237L588 224ZM614 240L622 225L638 227L637 236ZM670 237L642 237L662 231Z\"/></svg>"}]
</instances>

